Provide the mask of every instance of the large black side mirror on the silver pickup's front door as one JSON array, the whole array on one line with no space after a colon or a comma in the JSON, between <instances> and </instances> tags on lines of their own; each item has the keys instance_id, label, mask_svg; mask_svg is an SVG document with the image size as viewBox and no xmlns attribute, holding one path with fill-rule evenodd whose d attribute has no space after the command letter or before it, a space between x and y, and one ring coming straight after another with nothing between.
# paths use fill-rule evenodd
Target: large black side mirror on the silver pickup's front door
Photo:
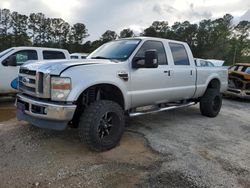
<instances>
[{"instance_id":1,"label":"large black side mirror on the silver pickup's front door","mask_svg":"<svg viewBox=\"0 0 250 188\"><path fill-rule=\"evenodd\" d=\"M135 57L132 61L132 68L157 68L158 54L156 50L148 50L145 57Z\"/></svg>"}]
</instances>

